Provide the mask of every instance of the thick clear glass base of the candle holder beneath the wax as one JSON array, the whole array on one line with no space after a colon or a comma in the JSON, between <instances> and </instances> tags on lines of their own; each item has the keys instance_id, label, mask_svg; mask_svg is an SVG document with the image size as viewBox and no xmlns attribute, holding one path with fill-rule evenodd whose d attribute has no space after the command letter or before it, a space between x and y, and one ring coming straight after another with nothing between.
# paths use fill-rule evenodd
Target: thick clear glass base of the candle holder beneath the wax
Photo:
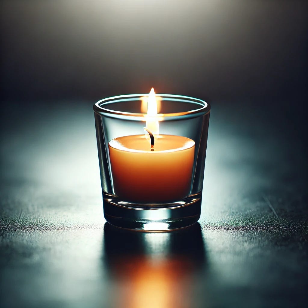
<instances>
[{"instance_id":1,"label":"thick clear glass base of the candle holder beneath the wax","mask_svg":"<svg viewBox=\"0 0 308 308\"><path fill-rule=\"evenodd\" d=\"M103 192L104 217L116 227L146 232L181 229L200 218L202 192L166 204L134 204Z\"/></svg>"}]
</instances>

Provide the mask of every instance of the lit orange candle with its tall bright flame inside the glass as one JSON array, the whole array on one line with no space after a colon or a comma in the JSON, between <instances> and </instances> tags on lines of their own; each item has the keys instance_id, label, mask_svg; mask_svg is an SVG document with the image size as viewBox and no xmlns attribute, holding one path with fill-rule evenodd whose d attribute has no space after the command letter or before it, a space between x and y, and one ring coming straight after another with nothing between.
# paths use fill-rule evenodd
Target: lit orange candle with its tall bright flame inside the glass
<instances>
[{"instance_id":1,"label":"lit orange candle with its tall bright flame inside the glass","mask_svg":"<svg viewBox=\"0 0 308 308\"><path fill-rule=\"evenodd\" d=\"M167 203L190 193L195 142L183 136L160 135L155 116L157 103L152 88L147 136L124 136L109 142L114 191L122 200Z\"/></svg>"}]
</instances>

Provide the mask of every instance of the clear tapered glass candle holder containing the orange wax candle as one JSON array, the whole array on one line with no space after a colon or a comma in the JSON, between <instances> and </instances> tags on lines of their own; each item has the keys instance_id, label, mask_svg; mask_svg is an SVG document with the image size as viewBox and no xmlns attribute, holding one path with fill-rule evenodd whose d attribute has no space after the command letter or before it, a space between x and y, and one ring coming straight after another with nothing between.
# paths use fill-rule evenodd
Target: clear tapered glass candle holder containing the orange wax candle
<instances>
[{"instance_id":1,"label":"clear tapered glass candle holder containing the orange wax candle","mask_svg":"<svg viewBox=\"0 0 308 308\"><path fill-rule=\"evenodd\" d=\"M157 94L158 113L150 116L148 97L120 95L93 106L104 217L133 230L184 228L200 218L210 106Z\"/></svg>"}]
</instances>

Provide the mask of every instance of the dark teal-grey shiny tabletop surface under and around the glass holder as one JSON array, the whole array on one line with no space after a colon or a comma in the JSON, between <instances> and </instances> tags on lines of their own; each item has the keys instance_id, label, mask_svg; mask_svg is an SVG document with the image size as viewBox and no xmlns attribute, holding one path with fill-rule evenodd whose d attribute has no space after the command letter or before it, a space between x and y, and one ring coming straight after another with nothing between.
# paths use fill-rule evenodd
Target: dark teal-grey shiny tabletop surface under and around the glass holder
<instances>
[{"instance_id":1,"label":"dark teal-grey shiny tabletop surface under and around the glass holder","mask_svg":"<svg viewBox=\"0 0 308 308\"><path fill-rule=\"evenodd\" d=\"M201 219L170 233L104 220L92 103L7 105L0 306L306 306L304 115L211 104Z\"/></svg>"}]
</instances>

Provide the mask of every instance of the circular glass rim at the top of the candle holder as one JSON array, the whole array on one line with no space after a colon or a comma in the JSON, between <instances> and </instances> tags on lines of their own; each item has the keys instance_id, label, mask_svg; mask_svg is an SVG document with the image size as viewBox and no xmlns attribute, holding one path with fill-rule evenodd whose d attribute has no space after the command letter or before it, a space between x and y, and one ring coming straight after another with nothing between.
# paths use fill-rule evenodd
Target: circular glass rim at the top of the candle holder
<instances>
[{"instance_id":1,"label":"circular glass rim at the top of the candle holder","mask_svg":"<svg viewBox=\"0 0 308 308\"><path fill-rule=\"evenodd\" d=\"M141 120L145 121L148 118L148 115L146 113L135 113L135 112L126 112L126 111L116 111L112 109L108 109L106 107L102 107L103 105L107 105L108 103L116 103L116 102L123 102L123 101L132 101L137 100L134 98L141 98L144 96L149 96L149 94L127 94L127 95L117 95L112 97L107 97L104 99L100 99L97 103L93 105L93 109L95 113L111 116L115 118L120 119L131 119L131 120ZM167 98L168 100L172 101L179 101L179 102L185 102L185 103L193 103L198 104L200 108L194 108L192 110L188 111L181 111L181 112L172 112L172 113L159 113L156 116L151 116L151 118L155 118L158 121L162 120L171 120L171 119L178 119L178 118L185 118L190 116L196 116L196 115L204 115L210 111L210 105L206 103L202 99L197 99L190 96L184 96L184 95L176 95L176 94L156 94L156 96L161 97L162 100L164 98Z\"/></svg>"}]
</instances>

